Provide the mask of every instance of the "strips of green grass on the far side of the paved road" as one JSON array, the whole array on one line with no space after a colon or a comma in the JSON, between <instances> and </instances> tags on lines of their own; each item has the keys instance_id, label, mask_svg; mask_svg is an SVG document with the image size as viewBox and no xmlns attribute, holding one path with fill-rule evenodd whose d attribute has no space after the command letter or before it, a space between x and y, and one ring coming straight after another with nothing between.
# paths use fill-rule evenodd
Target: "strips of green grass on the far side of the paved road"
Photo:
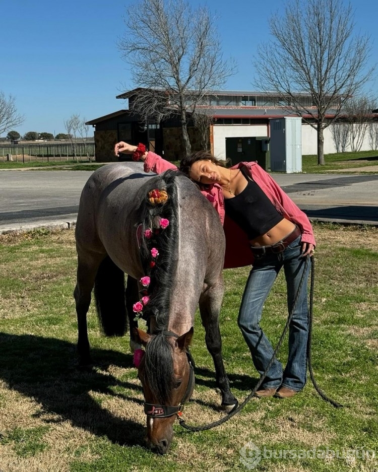
<instances>
[{"instance_id":1,"label":"strips of green grass on the far side of the paved road","mask_svg":"<svg viewBox=\"0 0 378 472\"><path fill-rule=\"evenodd\" d=\"M332 170L343 170L348 172L349 169L358 167L369 167L378 165L377 151L361 151L358 153L342 153L342 154L326 154L326 164L318 166L318 156L302 156L302 171L310 174L324 173ZM179 161L173 164L179 166ZM96 170L98 167L106 165L105 163L89 163L86 161L36 161L36 162L0 162L0 170L3 169L28 169L37 168L40 170ZM355 171L353 171L355 172ZM363 170L361 170L363 172Z\"/></svg>"}]
</instances>

